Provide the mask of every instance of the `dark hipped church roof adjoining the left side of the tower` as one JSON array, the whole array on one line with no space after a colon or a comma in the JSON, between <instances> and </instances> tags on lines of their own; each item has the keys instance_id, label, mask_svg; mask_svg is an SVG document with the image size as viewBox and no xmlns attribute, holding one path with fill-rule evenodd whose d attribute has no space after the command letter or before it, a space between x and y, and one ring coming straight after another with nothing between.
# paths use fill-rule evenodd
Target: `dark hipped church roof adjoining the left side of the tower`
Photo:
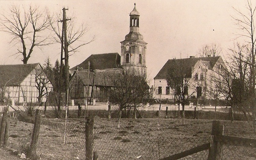
<instances>
[{"instance_id":1,"label":"dark hipped church roof adjoining the left side of the tower","mask_svg":"<svg viewBox=\"0 0 256 160\"><path fill-rule=\"evenodd\" d=\"M118 53L92 54L86 60L78 65L79 69L88 69L90 61L90 70L94 69L114 69L120 68L121 56ZM76 70L77 66L70 70Z\"/></svg>"}]
</instances>

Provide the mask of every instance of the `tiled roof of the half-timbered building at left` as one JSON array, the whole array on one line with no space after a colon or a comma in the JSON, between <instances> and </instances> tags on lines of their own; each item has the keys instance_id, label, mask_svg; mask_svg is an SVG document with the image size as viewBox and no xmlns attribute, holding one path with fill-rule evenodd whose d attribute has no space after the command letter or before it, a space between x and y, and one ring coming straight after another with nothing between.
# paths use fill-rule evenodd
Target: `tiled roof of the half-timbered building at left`
<instances>
[{"instance_id":1,"label":"tiled roof of the half-timbered building at left","mask_svg":"<svg viewBox=\"0 0 256 160\"><path fill-rule=\"evenodd\" d=\"M39 63L0 65L0 86L19 86Z\"/></svg>"}]
</instances>

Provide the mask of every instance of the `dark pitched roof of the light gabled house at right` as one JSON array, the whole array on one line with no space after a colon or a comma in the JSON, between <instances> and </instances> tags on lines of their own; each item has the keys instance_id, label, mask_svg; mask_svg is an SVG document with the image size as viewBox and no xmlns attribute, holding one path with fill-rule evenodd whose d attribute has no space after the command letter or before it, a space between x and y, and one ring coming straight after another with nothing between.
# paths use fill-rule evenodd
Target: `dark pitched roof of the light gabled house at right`
<instances>
[{"instance_id":1,"label":"dark pitched roof of the light gabled house at right","mask_svg":"<svg viewBox=\"0 0 256 160\"><path fill-rule=\"evenodd\" d=\"M196 62L198 60L202 60L202 63L204 63L206 66L208 66L209 69L212 69L213 66L215 65L215 63L221 59L220 56L216 56L216 57L190 57L190 58L186 58L186 59L171 59L168 60L163 68L158 72L158 74L155 76L154 79L162 79L162 78L166 78L167 77L167 73L168 73L168 69L170 68L170 66L173 66L174 64L179 64L179 65L183 65L185 66L185 72L186 75L190 75L191 77L191 73L192 73L192 67L196 64Z\"/></svg>"}]
</instances>

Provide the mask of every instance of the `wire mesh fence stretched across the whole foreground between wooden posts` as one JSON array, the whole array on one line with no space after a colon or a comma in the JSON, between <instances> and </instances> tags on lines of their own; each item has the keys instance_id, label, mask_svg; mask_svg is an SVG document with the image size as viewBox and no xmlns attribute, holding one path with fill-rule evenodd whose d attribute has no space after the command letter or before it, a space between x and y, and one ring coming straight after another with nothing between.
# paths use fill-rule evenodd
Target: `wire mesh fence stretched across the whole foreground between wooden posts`
<instances>
[{"instance_id":1,"label":"wire mesh fence stretched across the whole foreground between wooden posts","mask_svg":"<svg viewBox=\"0 0 256 160\"><path fill-rule=\"evenodd\" d=\"M10 131L7 146L26 154L31 143L34 117L22 116L22 118L18 117L18 120L11 118L13 117L11 114L9 116ZM182 125L178 120L158 119L158 121L170 123L168 127L161 128L161 126L146 126L147 122L156 119L129 120L127 122L131 124L123 125L118 129L115 126L116 120L95 119L93 149L97 152L99 160L161 159L211 141L212 121ZM175 123L171 124L172 121ZM85 123L84 118L70 118L65 125L65 119L42 117L36 149L37 155L43 160L85 159ZM194 131L198 126L207 132ZM184 130L194 131L198 134L184 134ZM225 143L222 147L221 159L256 159L255 151L254 145L244 147ZM181 159L203 160L207 157L208 149L206 148Z\"/></svg>"}]
</instances>

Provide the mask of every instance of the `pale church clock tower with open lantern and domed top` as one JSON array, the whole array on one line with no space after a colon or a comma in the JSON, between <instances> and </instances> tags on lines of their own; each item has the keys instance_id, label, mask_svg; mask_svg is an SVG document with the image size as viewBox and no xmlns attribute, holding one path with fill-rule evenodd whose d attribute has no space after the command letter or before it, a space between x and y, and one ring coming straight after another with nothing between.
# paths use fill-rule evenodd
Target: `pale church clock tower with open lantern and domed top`
<instances>
[{"instance_id":1,"label":"pale church clock tower with open lantern and domed top","mask_svg":"<svg viewBox=\"0 0 256 160\"><path fill-rule=\"evenodd\" d=\"M121 65L126 70L146 72L146 45L139 32L140 13L134 9L130 13L130 32L121 43Z\"/></svg>"}]
</instances>

